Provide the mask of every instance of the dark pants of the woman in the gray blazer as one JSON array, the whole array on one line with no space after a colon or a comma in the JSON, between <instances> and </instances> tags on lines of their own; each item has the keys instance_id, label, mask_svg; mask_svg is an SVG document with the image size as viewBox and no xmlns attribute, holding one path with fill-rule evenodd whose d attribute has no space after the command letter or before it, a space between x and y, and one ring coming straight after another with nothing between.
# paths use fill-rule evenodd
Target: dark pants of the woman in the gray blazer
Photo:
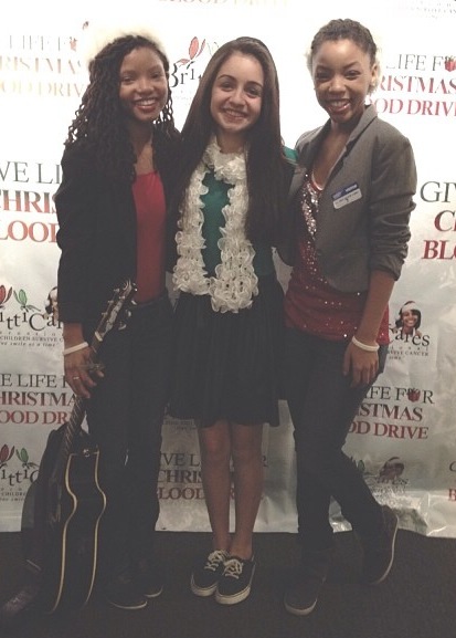
<instances>
[{"instance_id":1,"label":"dark pants of the woman in the gray blazer","mask_svg":"<svg viewBox=\"0 0 456 638\"><path fill-rule=\"evenodd\" d=\"M382 529L380 505L354 463L343 453L347 433L371 386L350 387L342 375L347 344L288 328L285 394L295 428L298 534L306 550L332 545L331 498L360 536ZM379 351L379 374L388 346ZM372 384L371 384L372 385Z\"/></svg>"}]
</instances>

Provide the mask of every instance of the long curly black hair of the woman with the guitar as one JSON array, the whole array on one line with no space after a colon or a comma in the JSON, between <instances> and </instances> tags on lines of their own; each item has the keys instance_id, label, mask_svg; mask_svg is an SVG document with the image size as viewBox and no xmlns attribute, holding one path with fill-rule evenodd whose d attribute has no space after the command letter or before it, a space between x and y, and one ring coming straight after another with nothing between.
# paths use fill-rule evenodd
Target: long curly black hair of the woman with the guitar
<instances>
[{"instance_id":1,"label":"long curly black hair of the woman with the guitar","mask_svg":"<svg viewBox=\"0 0 456 638\"><path fill-rule=\"evenodd\" d=\"M119 98L119 71L124 57L144 46L157 53L169 79L169 60L152 40L132 34L113 40L89 63L89 83L65 140L65 147L73 144L89 146L97 170L114 179L135 179L136 156ZM178 135L169 83L168 101L150 128L151 133L160 130L169 138Z\"/></svg>"}]
</instances>

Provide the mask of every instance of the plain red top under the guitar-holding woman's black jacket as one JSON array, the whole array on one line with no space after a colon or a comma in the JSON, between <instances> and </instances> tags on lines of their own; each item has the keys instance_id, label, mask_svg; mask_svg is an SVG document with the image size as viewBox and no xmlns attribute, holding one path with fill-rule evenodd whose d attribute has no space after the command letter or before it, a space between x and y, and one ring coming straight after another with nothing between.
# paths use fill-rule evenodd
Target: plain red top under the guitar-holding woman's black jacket
<instances>
[{"instance_id":1,"label":"plain red top under the guitar-holding woman's black jacket","mask_svg":"<svg viewBox=\"0 0 456 638\"><path fill-rule=\"evenodd\" d=\"M150 301L165 289L166 203L157 171L138 175L132 185L137 217L137 274L139 303Z\"/></svg>"}]
</instances>

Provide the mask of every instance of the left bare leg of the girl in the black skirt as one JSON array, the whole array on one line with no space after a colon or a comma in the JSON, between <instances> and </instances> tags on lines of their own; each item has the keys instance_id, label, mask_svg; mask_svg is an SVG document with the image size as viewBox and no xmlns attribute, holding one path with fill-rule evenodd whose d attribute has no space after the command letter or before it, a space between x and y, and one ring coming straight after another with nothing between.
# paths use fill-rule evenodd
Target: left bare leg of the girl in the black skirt
<instances>
[{"instance_id":1,"label":"left bare leg of the girl in the black skirt","mask_svg":"<svg viewBox=\"0 0 456 638\"><path fill-rule=\"evenodd\" d=\"M231 435L227 421L199 428L201 475L213 550L230 551Z\"/></svg>"}]
</instances>

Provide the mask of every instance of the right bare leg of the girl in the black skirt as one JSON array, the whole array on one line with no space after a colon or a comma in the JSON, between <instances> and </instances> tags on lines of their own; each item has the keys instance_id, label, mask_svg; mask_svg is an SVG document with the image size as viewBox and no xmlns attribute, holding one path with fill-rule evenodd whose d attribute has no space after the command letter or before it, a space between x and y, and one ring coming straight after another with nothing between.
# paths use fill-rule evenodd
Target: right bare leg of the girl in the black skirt
<instances>
[{"instance_id":1,"label":"right bare leg of the girl in the black skirt","mask_svg":"<svg viewBox=\"0 0 456 638\"><path fill-rule=\"evenodd\" d=\"M253 529L263 494L263 426L232 423L231 437L236 523L230 554L248 559L253 554Z\"/></svg>"}]
</instances>

